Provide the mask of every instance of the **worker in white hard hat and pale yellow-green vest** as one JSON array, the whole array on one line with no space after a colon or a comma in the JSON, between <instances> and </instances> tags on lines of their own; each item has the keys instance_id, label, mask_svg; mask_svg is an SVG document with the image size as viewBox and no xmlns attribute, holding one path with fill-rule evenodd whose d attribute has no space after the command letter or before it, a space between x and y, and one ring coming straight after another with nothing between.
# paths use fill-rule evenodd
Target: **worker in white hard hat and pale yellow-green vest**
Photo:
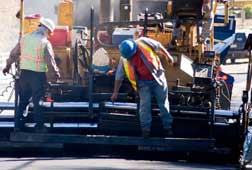
<instances>
[{"instance_id":1,"label":"worker in white hard hat and pale yellow-green vest","mask_svg":"<svg viewBox=\"0 0 252 170\"><path fill-rule=\"evenodd\" d=\"M51 19L41 18L39 27L23 36L20 42L12 49L6 61L3 74L9 73L12 63L20 61L19 79L19 107L15 115L15 131L24 127L23 112L32 97L34 104L34 121L36 132L46 132L44 116L40 100L45 94L46 72L54 73L55 79L60 77L59 69L54 59L51 43L47 38L52 35L55 24Z\"/></svg>"}]
</instances>

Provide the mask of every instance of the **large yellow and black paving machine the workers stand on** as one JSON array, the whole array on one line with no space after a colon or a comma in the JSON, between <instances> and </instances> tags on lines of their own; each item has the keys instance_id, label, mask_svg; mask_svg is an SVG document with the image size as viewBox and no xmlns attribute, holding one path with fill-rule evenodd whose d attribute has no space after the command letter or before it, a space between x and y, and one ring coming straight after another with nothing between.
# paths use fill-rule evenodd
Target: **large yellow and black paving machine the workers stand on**
<instances>
[{"instance_id":1,"label":"large yellow and black paving machine the workers stand on","mask_svg":"<svg viewBox=\"0 0 252 170\"><path fill-rule=\"evenodd\" d=\"M225 6L225 15L215 15L219 4ZM209 27L206 39L202 38L201 29L211 18L202 14L200 0L168 0L166 11L152 13L145 10L136 21L130 17L132 1L120 1L121 9L125 10L120 11L122 20L104 21L95 26L94 9L91 8L90 25L87 27L74 26L73 5L69 0L60 2L60 26L50 39L62 76L54 81L48 74L47 93L41 101L48 133L34 133L35 113L31 103L27 107L25 131L11 132L11 142L226 152L239 160L247 134L251 77L248 76L249 85L244 91L240 109L231 110L234 79L220 68L235 32L235 18L228 16L228 2L212 0L209 3L215 22ZM21 20L24 19L29 29L39 18L38 15L29 18L22 15L21 8ZM141 137L138 96L128 80L123 82L118 101L110 101L114 73L120 59L118 45L125 39L140 36L160 41L175 60L174 66L163 62L169 86L170 110L174 117L172 137L162 136L159 108L154 99L152 137ZM248 75L251 75L250 72L249 69ZM1 105L2 109L14 108L14 104ZM12 118L3 117L0 121L10 120Z\"/></svg>"}]
</instances>

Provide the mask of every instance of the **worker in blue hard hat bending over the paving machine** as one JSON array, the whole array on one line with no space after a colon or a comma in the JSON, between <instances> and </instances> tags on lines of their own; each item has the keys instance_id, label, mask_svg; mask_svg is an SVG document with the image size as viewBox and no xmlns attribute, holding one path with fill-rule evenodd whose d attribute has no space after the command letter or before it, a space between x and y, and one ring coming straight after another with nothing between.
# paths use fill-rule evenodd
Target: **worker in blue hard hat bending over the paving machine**
<instances>
[{"instance_id":1,"label":"worker in blue hard hat bending over the paving machine","mask_svg":"<svg viewBox=\"0 0 252 170\"><path fill-rule=\"evenodd\" d=\"M140 97L139 116L142 136L150 136L152 93L160 108L164 135L172 135L173 118L169 111L168 86L159 58L163 56L167 62L173 63L172 56L159 42L146 37L124 40L120 44L120 53L122 57L116 70L112 102L117 99L126 74Z\"/></svg>"}]
</instances>

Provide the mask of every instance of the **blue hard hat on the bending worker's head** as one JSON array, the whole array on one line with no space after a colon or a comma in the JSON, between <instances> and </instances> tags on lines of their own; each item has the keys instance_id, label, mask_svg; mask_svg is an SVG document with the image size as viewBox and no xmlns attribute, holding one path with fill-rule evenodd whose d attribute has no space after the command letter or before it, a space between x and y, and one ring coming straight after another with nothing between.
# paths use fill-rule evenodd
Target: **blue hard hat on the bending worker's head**
<instances>
[{"instance_id":1,"label":"blue hard hat on the bending worker's head","mask_svg":"<svg viewBox=\"0 0 252 170\"><path fill-rule=\"evenodd\" d=\"M136 42L133 39L124 40L120 45L120 53L126 59L131 59L137 49Z\"/></svg>"}]
</instances>

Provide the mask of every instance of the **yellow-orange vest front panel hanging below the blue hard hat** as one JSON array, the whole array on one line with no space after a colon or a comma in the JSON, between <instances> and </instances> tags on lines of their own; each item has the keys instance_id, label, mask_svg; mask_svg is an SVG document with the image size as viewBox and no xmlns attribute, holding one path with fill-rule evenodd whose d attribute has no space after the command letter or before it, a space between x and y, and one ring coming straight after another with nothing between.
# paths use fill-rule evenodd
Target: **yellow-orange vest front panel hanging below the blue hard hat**
<instances>
[{"instance_id":1,"label":"yellow-orange vest front panel hanging below the blue hard hat","mask_svg":"<svg viewBox=\"0 0 252 170\"><path fill-rule=\"evenodd\" d=\"M136 91L137 86L136 86L135 70L132 64L130 64L130 62L127 59L122 58L122 60L123 60L123 67L124 67L125 74L127 78L129 79L132 88Z\"/></svg>"}]
</instances>

